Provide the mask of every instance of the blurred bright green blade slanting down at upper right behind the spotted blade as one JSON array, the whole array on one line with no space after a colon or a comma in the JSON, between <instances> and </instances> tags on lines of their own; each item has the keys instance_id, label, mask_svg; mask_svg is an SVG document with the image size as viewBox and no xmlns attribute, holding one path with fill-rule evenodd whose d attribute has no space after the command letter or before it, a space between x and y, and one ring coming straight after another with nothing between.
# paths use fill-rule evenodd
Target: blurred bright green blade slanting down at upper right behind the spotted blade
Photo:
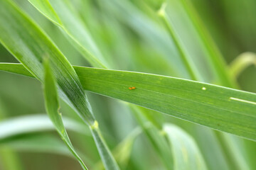
<instances>
[{"instance_id":1,"label":"blurred bright green blade slanting down at upper right behind the spotted blade","mask_svg":"<svg viewBox=\"0 0 256 170\"><path fill-rule=\"evenodd\" d=\"M210 69L210 72L213 74L215 79L214 82L223 86L234 87L235 81L229 79L228 67L226 67L225 61L223 60L218 47L213 42L213 39L210 37L206 27L203 26L203 22L193 8L191 2L187 0L168 0L166 15L169 16L169 21L171 21L171 18L172 20L176 20L174 26L180 25L179 18L183 17L182 24L186 24L186 29L183 30L180 26L181 31L190 33L189 37L183 37L183 40L187 40L187 42L198 45L198 51L201 51L202 55L201 60L205 60L206 64L210 67L205 69ZM178 28L176 30L178 30ZM182 35L182 32L180 32L179 35ZM186 43L185 45L189 46ZM193 45L190 46L192 48L195 47ZM200 69L199 72L203 72L203 69Z\"/></svg>"}]
</instances>

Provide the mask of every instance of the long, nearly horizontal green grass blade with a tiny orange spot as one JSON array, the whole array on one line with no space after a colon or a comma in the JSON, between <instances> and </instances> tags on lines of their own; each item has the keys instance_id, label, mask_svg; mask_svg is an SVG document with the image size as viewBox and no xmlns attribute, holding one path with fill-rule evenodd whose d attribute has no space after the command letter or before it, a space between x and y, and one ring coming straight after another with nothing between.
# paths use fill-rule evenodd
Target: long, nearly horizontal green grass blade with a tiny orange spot
<instances>
[{"instance_id":1,"label":"long, nearly horizontal green grass blade with a tiny orange spot","mask_svg":"<svg viewBox=\"0 0 256 170\"><path fill-rule=\"evenodd\" d=\"M14 71L23 73L19 65ZM85 90L256 140L256 94L156 74L74 68Z\"/></svg>"}]
</instances>

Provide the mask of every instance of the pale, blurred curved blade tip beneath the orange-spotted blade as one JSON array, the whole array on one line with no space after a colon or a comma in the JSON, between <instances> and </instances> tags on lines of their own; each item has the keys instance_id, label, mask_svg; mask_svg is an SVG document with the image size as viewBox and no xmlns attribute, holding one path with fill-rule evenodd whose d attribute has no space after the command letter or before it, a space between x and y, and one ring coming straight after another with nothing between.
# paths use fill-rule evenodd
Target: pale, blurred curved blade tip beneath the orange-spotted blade
<instances>
[{"instance_id":1,"label":"pale, blurred curved blade tip beneath the orange-spotted blade","mask_svg":"<svg viewBox=\"0 0 256 170\"><path fill-rule=\"evenodd\" d=\"M174 154L174 170L207 169L193 137L178 126L171 124L164 125L164 132L166 132L171 151Z\"/></svg>"}]
</instances>

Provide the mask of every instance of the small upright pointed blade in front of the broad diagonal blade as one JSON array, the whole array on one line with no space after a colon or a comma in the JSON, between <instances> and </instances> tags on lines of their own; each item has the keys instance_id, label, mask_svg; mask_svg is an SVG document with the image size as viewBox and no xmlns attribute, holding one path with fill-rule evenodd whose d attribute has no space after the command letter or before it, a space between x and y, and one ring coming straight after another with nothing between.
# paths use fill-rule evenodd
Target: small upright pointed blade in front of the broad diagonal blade
<instances>
[{"instance_id":1,"label":"small upright pointed blade in front of the broad diagonal blade","mask_svg":"<svg viewBox=\"0 0 256 170\"><path fill-rule=\"evenodd\" d=\"M58 103L58 92L57 92L57 84L55 82L55 79L53 77L53 74L50 70L48 60L44 63L45 67L45 75L44 75L44 96L45 96L45 103L46 103L46 111L48 113L48 116L50 120L53 122L53 125L55 125L55 128L62 138L63 142L65 142L65 145L70 149L70 152L74 155L74 157L78 160L80 165L82 166L82 169L86 169L87 167L82 162L82 159L78 156L78 154L75 152L75 149L70 142L70 139L68 137L68 133L65 130L63 120L61 113L58 111L60 106Z\"/></svg>"}]
</instances>

